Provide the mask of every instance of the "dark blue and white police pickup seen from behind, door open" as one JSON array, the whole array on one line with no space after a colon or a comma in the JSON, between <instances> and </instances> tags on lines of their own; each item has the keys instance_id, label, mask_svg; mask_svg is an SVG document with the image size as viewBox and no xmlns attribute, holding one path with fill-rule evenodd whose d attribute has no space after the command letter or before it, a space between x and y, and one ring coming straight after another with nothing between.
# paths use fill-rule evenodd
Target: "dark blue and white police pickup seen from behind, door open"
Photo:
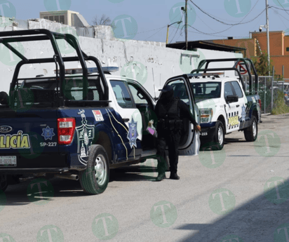
<instances>
[{"instance_id":1,"label":"dark blue and white police pickup seen from behind, door open","mask_svg":"<svg viewBox=\"0 0 289 242\"><path fill-rule=\"evenodd\" d=\"M58 39L67 41L76 56L63 57ZM79 180L84 192L100 194L107 188L110 169L157 158L156 138L148 130L149 121L157 122L156 102L140 83L113 76L115 68L102 68L71 34L33 29L1 32L0 40L21 59L8 105L0 105L2 191L28 174ZM15 41L49 41L55 54L27 59L10 45ZM88 68L88 60L96 67ZM67 62L80 62L81 69L65 69ZM36 63L54 63L55 75L20 78L21 67ZM184 98L198 120L188 76L175 76L166 85L175 86L175 93L186 91ZM183 122L180 155L197 155L199 134L188 120Z\"/></svg>"}]
</instances>

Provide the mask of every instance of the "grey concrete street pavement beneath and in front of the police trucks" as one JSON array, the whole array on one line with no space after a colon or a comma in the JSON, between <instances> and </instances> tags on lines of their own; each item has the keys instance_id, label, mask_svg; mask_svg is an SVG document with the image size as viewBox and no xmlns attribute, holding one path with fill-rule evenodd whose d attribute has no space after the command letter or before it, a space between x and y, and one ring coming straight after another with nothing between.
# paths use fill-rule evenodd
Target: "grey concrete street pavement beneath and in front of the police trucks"
<instances>
[{"instance_id":1,"label":"grey concrete street pavement beneath and in front of the police trucks","mask_svg":"<svg viewBox=\"0 0 289 242\"><path fill-rule=\"evenodd\" d=\"M98 196L53 178L39 204L29 181L8 187L0 241L289 241L289 115L262 120L256 142L232 133L221 152L181 157L178 181L154 182L151 160L114 170Z\"/></svg>"}]
</instances>

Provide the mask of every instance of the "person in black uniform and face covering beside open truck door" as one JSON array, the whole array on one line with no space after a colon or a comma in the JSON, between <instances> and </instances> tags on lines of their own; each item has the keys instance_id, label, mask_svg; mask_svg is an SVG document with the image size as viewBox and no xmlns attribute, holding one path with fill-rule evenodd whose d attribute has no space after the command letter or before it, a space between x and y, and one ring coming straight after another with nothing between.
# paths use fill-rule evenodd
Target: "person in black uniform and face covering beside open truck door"
<instances>
[{"instance_id":1,"label":"person in black uniform and face covering beside open truck door","mask_svg":"<svg viewBox=\"0 0 289 242\"><path fill-rule=\"evenodd\" d=\"M196 130L201 131L201 126L198 126L198 123L194 120L189 107L180 98L174 97L174 91L171 86L166 86L161 90L163 93L155 107L155 113L158 118L156 130L158 132L157 154L159 154L159 175L156 177L156 181L166 178L166 145L168 145L168 158L170 160L170 179L179 180L177 163L179 159L178 147L182 133L182 119L189 119Z\"/></svg>"}]
</instances>

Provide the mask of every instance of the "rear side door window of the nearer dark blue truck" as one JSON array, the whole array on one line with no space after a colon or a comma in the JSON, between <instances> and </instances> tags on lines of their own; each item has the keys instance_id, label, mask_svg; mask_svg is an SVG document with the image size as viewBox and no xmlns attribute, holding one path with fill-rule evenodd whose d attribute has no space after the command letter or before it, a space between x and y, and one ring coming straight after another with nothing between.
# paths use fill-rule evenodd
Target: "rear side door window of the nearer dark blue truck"
<instances>
[{"instance_id":1,"label":"rear side door window of the nearer dark blue truck","mask_svg":"<svg viewBox=\"0 0 289 242\"><path fill-rule=\"evenodd\" d=\"M126 84L123 81L110 81L110 83L119 106L126 109L133 108L133 101L130 98Z\"/></svg>"}]
</instances>

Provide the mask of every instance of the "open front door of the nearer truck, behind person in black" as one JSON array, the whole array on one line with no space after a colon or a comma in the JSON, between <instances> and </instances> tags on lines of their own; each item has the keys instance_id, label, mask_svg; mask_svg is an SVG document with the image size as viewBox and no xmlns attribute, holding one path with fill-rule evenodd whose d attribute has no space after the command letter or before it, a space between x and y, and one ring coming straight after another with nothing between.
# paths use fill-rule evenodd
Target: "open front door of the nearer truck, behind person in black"
<instances>
[{"instance_id":1,"label":"open front door of the nearer truck, behind person in black","mask_svg":"<svg viewBox=\"0 0 289 242\"><path fill-rule=\"evenodd\" d=\"M197 123L200 123L199 109L194 101L194 93L191 90L189 78L187 75L175 76L166 81L165 86L171 86L174 90L174 96L180 98L189 106L191 114ZM162 94L162 92L161 92ZM159 97L161 97L161 94ZM182 119L182 137L180 140L179 152L180 156L192 156L199 154L200 148L200 133L194 130L194 125L190 123L189 119Z\"/></svg>"}]
</instances>

